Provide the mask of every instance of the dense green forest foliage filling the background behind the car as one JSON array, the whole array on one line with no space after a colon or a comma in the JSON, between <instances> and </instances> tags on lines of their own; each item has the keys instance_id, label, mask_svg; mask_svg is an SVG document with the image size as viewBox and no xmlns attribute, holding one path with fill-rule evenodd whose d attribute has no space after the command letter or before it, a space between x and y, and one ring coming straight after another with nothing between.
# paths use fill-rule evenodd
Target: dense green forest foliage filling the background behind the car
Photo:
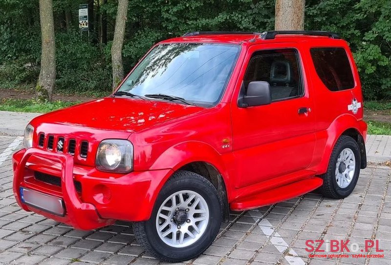
<instances>
[{"instance_id":1,"label":"dense green forest foliage filling the background behind the car","mask_svg":"<svg viewBox=\"0 0 391 265\"><path fill-rule=\"evenodd\" d=\"M53 0L56 92L98 94L111 87L111 42L117 0L95 0L95 31L80 38L78 6ZM130 0L123 47L124 70L157 41L189 31L264 31L274 28L275 0ZM99 6L99 8L98 8ZM107 44L99 17L107 13ZM65 14L71 14L69 25ZM306 30L338 32L349 42L367 100L391 98L391 0L306 0ZM0 0L0 86L34 87L41 57L39 0Z\"/></svg>"}]
</instances>

